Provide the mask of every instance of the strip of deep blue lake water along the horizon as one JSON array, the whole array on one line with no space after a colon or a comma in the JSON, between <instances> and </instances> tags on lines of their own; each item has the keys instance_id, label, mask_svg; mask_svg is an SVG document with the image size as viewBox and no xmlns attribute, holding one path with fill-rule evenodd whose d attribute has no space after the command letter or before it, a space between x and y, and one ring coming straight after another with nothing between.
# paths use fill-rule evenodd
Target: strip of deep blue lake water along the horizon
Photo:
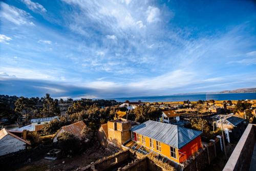
<instances>
[{"instance_id":1,"label":"strip of deep blue lake water along the horizon","mask_svg":"<svg viewBox=\"0 0 256 171\"><path fill-rule=\"evenodd\" d=\"M166 101L198 101L198 100L245 100L256 99L256 93L225 93L225 94L187 94L187 95L170 95L170 96L142 96L142 97L123 97L114 98L116 101L124 102L138 101L143 102L166 102Z\"/></svg>"}]
</instances>

